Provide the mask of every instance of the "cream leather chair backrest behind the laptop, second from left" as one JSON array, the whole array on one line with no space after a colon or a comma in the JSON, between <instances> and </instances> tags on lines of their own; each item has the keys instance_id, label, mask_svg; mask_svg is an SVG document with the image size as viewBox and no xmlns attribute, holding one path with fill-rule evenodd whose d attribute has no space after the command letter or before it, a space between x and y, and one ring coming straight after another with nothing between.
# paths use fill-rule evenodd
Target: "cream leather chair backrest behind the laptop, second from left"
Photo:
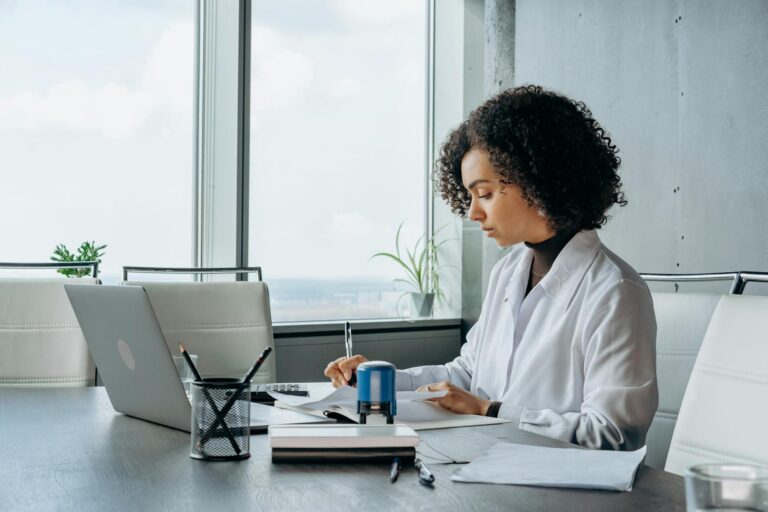
<instances>
[{"instance_id":1,"label":"cream leather chair backrest behind the laptop, second from left","mask_svg":"<svg viewBox=\"0 0 768 512\"><path fill-rule=\"evenodd\" d=\"M272 314L266 283L146 282L140 285L155 310L168 348L179 353L179 343L199 357L205 377L243 376L267 345L273 344ZM253 382L274 382L274 353Z\"/></svg>"}]
</instances>

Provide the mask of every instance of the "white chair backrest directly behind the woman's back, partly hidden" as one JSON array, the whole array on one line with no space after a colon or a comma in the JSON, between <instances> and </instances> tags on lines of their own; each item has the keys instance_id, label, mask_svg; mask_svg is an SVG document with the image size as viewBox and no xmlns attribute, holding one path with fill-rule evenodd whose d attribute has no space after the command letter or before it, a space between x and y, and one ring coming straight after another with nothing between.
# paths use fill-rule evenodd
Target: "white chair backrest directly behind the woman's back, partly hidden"
<instances>
[{"instance_id":1,"label":"white chair backrest directly behind the woman's back, partly hidden","mask_svg":"<svg viewBox=\"0 0 768 512\"><path fill-rule=\"evenodd\" d=\"M654 292L659 408L646 437L646 463L664 468L688 378L721 295Z\"/></svg>"}]
</instances>

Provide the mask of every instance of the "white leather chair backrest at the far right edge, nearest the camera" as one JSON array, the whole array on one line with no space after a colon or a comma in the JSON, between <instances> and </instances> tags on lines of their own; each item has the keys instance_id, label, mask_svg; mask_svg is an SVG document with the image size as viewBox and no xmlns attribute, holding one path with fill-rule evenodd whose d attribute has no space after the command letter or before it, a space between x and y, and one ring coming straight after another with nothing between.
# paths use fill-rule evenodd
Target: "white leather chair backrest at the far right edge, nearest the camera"
<instances>
[{"instance_id":1,"label":"white leather chair backrest at the far right edge, nearest the camera","mask_svg":"<svg viewBox=\"0 0 768 512\"><path fill-rule=\"evenodd\" d=\"M666 470L768 464L768 297L724 295L712 315L672 436Z\"/></svg>"}]
</instances>

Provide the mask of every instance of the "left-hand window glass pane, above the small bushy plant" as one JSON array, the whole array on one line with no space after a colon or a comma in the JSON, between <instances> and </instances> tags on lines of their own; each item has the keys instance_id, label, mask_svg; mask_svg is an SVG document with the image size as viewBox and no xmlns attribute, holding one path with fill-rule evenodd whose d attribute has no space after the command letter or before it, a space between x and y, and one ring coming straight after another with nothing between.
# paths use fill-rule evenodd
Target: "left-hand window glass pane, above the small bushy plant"
<instances>
[{"instance_id":1,"label":"left-hand window glass pane, above the small bushy plant","mask_svg":"<svg viewBox=\"0 0 768 512\"><path fill-rule=\"evenodd\" d=\"M106 283L192 263L194 15L194 0L0 2L0 261L95 241Z\"/></svg>"}]
</instances>

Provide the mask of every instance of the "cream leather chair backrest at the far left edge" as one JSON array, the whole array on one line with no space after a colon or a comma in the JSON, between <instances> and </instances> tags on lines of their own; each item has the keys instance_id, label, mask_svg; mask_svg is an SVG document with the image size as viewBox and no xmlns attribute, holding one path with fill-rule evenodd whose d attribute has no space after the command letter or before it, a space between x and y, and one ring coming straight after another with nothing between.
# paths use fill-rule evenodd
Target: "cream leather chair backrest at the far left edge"
<instances>
[{"instance_id":1,"label":"cream leather chair backrest at the far left edge","mask_svg":"<svg viewBox=\"0 0 768 512\"><path fill-rule=\"evenodd\" d=\"M93 361L64 283L97 280L0 279L0 386L94 384Z\"/></svg>"}]
</instances>

